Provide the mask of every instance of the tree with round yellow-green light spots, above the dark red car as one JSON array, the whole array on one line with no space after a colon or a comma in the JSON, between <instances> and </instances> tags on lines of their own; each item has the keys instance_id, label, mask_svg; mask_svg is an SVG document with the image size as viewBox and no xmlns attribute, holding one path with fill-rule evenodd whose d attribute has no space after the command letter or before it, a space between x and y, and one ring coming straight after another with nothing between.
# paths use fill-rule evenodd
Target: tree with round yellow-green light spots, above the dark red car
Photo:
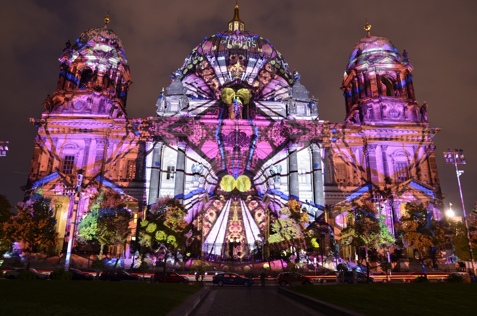
<instances>
[{"instance_id":1,"label":"tree with round yellow-green light spots, above the dark red car","mask_svg":"<svg viewBox=\"0 0 477 316\"><path fill-rule=\"evenodd\" d=\"M187 210L179 200L166 196L156 199L147 219L140 222L139 244L151 251L164 249L164 272L167 255L192 243L192 229L184 219L186 215Z\"/></svg>"}]
</instances>

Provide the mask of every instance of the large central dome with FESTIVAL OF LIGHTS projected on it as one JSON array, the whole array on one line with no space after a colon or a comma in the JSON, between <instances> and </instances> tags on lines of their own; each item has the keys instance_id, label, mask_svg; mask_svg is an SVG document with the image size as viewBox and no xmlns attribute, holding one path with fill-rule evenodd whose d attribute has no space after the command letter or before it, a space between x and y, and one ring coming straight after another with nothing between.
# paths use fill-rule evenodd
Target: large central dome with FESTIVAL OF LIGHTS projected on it
<instances>
[{"instance_id":1,"label":"large central dome with FESTIVAL OF LIGHTS projected on it","mask_svg":"<svg viewBox=\"0 0 477 316\"><path fill-rule=\"evenodd\" d=\"M187 94L206 99L219 99L221 88L235 83L247 86L255 100L281 99L293 83L288 63L268 39L239 30L206 37L179 71Z\"/></svg>"}]
</instances>

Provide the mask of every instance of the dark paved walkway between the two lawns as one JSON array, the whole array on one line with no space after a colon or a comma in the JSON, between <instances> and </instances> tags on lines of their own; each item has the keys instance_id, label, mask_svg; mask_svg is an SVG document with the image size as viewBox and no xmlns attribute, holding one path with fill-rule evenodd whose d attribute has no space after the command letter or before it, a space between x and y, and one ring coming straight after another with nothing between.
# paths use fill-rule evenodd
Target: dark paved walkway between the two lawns
<instances>
[{"instance_id":1,"label":"dark paved walkway between the two lawns","mask_svg":"<svg viewBox=\"0 0 477 316\"><path fill-rule=\"evenodd\" d=\"M325 316L278 294L277 285L212 287L192 316Z\"/></svg>"}]
</instances>

